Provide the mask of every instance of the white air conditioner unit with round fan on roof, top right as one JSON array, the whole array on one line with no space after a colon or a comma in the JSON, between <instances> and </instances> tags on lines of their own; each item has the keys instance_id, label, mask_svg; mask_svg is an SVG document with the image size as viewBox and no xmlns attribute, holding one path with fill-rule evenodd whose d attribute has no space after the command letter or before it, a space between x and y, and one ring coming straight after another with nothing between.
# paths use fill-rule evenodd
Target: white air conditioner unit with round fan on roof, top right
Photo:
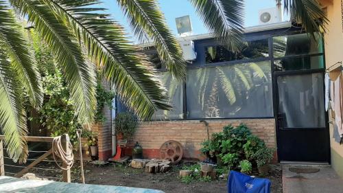
<instances>
[{"instance_id":1,"label":"white air conditioner unit with round fan on roof, top right","mask_svg":"<svg viewBox=\"0 0 343 193\"><path fill-rule=\"evenodd\" d=\"M259 24L279 23L282 21L282 11L278 8L259 10Z\"/></svg>"}]
</instances>

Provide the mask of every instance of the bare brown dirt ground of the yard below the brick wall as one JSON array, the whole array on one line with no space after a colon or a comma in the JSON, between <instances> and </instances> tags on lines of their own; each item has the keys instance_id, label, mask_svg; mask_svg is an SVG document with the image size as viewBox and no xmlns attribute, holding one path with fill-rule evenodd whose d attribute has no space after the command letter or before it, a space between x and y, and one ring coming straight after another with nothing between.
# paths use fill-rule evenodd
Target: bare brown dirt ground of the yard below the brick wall
<instances>
[{"instance_id":1,"label":"bare brown dirt ground of the yard below the brick wall","mask_svg":"<svg viewBox=\"0 0 343 193\"><path fill-rule=\"evenodd\" d=\"M187 163L189 165L189 163ZM178 179L179 170L184 164L172 166L166 173L149 174L140 169L134 169L128 164L108 163L106 165L95 165L93 163L84 163L84 172L86 183L101 185L121 185L135 188L150 188L163 190L166 193L221 193L227 192L226 179L210 182L191 181L191 183L182 183ZM54 163L38 164L39 168L49 168L49 170L32 170L36 177L47 177L47 179L60 181L62 172L56 168ZM282 192L281 166L271 165L268 178L272 181L272 192ZM19 172L17 168L6 168L8 172ZM72 182L81 183L80 163L74 163L71 169Z\"/></svg>"}]
</instances>

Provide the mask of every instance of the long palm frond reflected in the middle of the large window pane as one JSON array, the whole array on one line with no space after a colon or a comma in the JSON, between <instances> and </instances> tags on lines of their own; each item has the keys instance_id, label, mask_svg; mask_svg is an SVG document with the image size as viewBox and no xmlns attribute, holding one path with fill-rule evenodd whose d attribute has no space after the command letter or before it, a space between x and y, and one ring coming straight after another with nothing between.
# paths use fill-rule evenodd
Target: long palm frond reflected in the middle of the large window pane
<instances>
[{"instance_id":1,"label":"long palm frond reflected in the middle of the large window pane","mask_svg":"<svg viewBox=\"0 0 343 193\"><path fill-rule=\"evenodd\" d=\"M226 98L228 99L228 102L230 104L234 104L236 102L236 94L233 84L231 84L230 79L220 67L215 67L215 69L220 77L220 84L222 84L222 89L226 95Z\"/></svg>"}]
</instances>

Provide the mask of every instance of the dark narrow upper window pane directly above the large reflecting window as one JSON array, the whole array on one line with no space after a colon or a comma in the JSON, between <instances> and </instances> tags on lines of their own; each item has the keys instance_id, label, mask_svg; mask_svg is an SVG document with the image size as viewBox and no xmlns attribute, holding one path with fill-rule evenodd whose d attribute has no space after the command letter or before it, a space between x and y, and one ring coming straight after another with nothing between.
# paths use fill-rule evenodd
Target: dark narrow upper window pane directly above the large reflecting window
<instances>
[{"instance_id":1,"label":"dark narrow upper window pane directly above the large reflecting window","mask_svg":"<svg viewBox=\"0 0 343 193\"><path fill-rule=\"evenodd\" d=\"M230 52L223 45L205 47L206 64L269 56L268 39L248 41L241 52Z\"/></svg>"}]
</instances>

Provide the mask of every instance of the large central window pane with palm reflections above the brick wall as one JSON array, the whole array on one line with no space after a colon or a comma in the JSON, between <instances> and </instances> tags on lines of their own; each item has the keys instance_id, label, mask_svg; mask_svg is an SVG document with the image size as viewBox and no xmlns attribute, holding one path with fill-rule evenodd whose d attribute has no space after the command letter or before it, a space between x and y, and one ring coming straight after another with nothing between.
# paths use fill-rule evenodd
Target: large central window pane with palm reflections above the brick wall
<instances>
[{"instance_id":1,"label":"large central window pane with palm reflections above the brick wall","mask_svg":"<svg viewBox=\"0 0 343 193\"><path fill-rule=\"evenodd\" d=\"M272 117L270 61L187 71L187 118Z\"/></svg>"}]
</instances>

